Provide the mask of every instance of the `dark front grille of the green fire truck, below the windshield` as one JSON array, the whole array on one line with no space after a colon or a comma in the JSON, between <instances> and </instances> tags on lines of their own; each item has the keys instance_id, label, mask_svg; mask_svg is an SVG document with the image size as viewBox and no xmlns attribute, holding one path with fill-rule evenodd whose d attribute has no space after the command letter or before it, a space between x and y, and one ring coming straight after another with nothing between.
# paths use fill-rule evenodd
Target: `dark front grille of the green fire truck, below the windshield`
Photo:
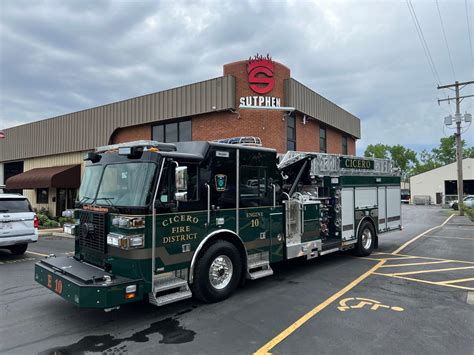
<instances>
[{"instance_id":1,"label":"dark front grille of the green fire truck, below the windshield","mask_svg":"<svg viewBox=\"0 0 474 355\"><path fill-rule=\"evenodd\" d=\"M107 252L107 213L81 211L79 245L105 254Z\"/></svg>"}]
</instances>

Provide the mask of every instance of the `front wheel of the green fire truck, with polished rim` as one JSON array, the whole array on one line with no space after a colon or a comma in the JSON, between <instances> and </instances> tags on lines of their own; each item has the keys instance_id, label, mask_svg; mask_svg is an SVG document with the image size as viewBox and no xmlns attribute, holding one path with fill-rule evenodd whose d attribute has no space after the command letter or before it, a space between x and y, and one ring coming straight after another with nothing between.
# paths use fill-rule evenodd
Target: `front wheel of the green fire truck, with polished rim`
<instances>
[{"instance_id":1,"label":"front wheel of the green fire truck, with polished rim","mask_svg":"<svg viewBox=\"0 0 474 355\"><path fill-rule=\"evenodd\" d=\"M211 244L196 263L194 297L213 303L228 298L239 285L242 260L237 248L224 240Z\"/></svg>"}]
</instances>

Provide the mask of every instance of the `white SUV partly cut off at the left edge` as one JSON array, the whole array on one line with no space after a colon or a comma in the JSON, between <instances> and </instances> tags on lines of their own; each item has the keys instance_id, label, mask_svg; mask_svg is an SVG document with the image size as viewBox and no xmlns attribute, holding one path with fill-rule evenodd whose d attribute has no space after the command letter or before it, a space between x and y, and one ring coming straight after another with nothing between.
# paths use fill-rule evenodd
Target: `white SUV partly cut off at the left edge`
<instances>
[{"instance_id":1,"label":"white SUV partly cut off at the left edge","mask_svg":"<svg viewBox=\"0 0 474 355\"><path fill-rule=\"evenodd\" d=\"M25 253L28 243L38 241L38 224L25 196L0 193L0 248L15 255Z\"/></svg>"}]
</instances>

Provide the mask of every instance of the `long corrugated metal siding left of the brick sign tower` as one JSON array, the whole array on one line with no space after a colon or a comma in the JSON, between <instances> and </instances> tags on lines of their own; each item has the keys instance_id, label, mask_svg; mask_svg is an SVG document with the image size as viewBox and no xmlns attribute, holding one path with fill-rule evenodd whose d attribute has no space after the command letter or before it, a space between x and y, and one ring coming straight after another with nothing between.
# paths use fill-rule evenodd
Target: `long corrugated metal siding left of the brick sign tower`
<instances>
[{"instance_id":1,"label":"long corrugated metal siding left of the brick sign tower","mask_svg":"<svg viewBox=\"0 0 474 355\"><path fill-rule=\"evenodd\" d=\"M234 102L235 78L224 76L8 128L0 161L93 149L108 144L118 127L231 109Z\"/></svg>"}]
</instances>

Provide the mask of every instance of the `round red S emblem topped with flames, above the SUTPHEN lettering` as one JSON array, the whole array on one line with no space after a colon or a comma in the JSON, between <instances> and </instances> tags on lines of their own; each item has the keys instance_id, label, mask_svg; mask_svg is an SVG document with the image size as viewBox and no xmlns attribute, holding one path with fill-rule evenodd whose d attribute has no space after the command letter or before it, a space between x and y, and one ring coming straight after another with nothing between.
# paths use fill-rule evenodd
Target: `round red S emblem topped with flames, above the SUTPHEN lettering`
<instances>
[{"instance_id":1,"label":"round red S emblem topped with flames, above the SUTPHEN lettering","mask_svg":"<svg viewBox=\"0 0 474 355\"><path fill-rule=\"evenodd\" d=\"M272 91L275 79L273 79L273 61L269 54L266 57L257 54L254 58L249 58L247 73L249 86L257 94ZM263 76L257 76L258 74Z\"/></svg>"}]
</instances>

